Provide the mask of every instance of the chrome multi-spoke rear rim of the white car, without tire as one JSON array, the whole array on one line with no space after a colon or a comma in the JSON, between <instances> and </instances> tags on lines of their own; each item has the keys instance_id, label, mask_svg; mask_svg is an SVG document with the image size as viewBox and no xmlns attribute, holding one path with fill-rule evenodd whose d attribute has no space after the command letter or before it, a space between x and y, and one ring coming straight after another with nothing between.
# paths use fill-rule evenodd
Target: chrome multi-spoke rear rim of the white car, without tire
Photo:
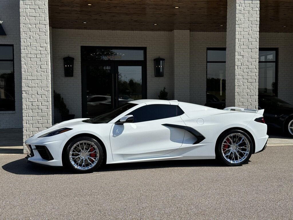
<instances>
[{"instance_id":1,"label":"chrome multi-spoke rear rim of the white car, without tire","mask_svg":"<svg viewBox=\"0 0 293 220\"><path fill-rule=\"evenodd\" d=\"M248 157L251 148L246 136L241 133L232 133L224 138L221 150L225 160L237 164Z\"/></svg>"}]
</instances>

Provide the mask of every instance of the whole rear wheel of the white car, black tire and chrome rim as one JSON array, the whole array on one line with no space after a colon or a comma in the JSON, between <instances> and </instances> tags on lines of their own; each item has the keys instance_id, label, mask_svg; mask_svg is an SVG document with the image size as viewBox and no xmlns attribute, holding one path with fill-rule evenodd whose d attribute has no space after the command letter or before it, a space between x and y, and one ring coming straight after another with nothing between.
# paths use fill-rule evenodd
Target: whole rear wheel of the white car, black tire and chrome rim
<instances>
[{"instance_id":1,"label":"whole rear wheel of the white car, black tire and chrome rim","mask_svg":"<svg viewBox=\"0 0 293 220\"><path fill-rule=\"evenodd\" d=\"M242 139L242 137L244 138ZM224 165L240 166L248 162L253 149L253 142L247 133L240 130L226 131L217 140L215 148L216 159Z\"/></svg>"}]
</instances>

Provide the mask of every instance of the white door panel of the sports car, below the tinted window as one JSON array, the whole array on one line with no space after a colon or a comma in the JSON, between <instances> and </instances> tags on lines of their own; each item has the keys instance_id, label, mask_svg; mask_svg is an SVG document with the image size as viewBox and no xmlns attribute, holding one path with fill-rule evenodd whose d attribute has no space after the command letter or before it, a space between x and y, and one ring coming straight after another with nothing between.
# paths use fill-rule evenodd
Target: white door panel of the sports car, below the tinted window
<instances>
[{"instance_id":1,"label":"white door panel of the sports car, below the tinted window","mask_svg":"<svg viewBox=\"0 0 293 220\"><path fill-rule=\"evenodd\" d=\"M180 148L185 131L161 126L166 123L185 125L180 116L123 125L113 124L110 133L113 160L164 155Z\"/></svg>"}]
</instances>

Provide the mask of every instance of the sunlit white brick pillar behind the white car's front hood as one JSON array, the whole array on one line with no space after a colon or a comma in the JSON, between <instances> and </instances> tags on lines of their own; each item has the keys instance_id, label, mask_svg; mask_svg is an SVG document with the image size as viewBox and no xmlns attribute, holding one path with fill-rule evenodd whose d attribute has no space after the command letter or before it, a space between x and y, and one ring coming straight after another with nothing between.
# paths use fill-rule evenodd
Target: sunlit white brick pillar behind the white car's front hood
<instances>
[{"instance_id":1,"label":"sunlit white brick pillar behind the white car's front hood","mask_svg":"<svg viewBox=\"0 0 293 220\"><path fill-rule=\"evenodd\" d=\"M48 0L20 0L20 31L25 141L52 120Z\"/></svg>"}]
</instances>

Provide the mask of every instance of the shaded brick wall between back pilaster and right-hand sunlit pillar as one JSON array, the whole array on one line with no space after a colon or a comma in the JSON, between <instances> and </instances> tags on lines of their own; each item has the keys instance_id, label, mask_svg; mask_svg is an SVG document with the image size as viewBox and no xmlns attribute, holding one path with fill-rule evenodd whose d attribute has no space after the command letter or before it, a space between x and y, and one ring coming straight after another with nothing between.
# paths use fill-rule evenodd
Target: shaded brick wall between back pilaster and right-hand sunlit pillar
<instances>
[{"instance_id":1,"label":"shaded brick wall between back pilaster and right-hand sunlit pillar","mask_svg":"<svg viewBox=\"0 0 293 220\"><path fill-rule=\"evenodd\" d=\"M226 32L190 32L190 102L206 103L207 48L225 48Z\"/></svg>"}]
</instances>

